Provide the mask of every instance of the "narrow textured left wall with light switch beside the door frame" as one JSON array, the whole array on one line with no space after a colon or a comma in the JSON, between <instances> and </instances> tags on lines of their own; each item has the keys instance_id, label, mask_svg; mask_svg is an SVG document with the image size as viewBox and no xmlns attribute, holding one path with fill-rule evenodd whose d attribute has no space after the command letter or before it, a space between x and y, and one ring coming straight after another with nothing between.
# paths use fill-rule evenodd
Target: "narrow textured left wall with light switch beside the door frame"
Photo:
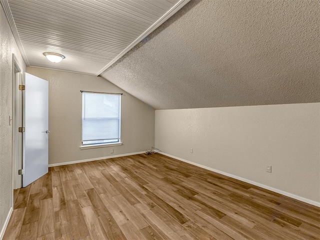
<instances>
[{"instance_id":1,"label":"narrow textured left wall with light switch beside the door frame","mask_svg":"<svg viewBox=\"0 0 320 240\"><path fill-rule=\"evenodd\" d=\"M12 195L12 129L9 125L9 115L12 115L12 53L24 70L23 59L0 5L0 230L11 207Z\"/></svg>"}]
</instances>

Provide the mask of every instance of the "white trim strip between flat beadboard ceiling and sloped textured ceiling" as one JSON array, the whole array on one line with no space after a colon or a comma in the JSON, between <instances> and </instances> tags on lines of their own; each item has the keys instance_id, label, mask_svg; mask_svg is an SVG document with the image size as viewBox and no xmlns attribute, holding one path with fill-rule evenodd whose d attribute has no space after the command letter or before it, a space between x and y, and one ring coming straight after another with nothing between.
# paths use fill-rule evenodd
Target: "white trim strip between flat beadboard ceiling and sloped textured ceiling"
<instances>
[{"instance_id":1,"label":"white trim strip between flat beadboard ceiling and sloped textured ceiling","mask_svg":"<svg viewBox=\"0 0 320 240\"><path fill-rule=\"evenodd\" d=\"M130 45L128 45L123 51L121 51L116 57L114 57L108 64L106 64L103 68L101 68L96 75L100 75L103 71L105 71L108 67L110 67L114 62L116 62L121 56L127 53L133 46L135 46L138 42L140 42L144 37L154 31L159 25L165 22L170 16L172 16L175 12L182 8L186 3L190 0L179 0L170 10L168 10L161 18L159 18L156 22L154 22L148 29L146 29L138 38L136 38Z\"/></svg>"}]
</instances>

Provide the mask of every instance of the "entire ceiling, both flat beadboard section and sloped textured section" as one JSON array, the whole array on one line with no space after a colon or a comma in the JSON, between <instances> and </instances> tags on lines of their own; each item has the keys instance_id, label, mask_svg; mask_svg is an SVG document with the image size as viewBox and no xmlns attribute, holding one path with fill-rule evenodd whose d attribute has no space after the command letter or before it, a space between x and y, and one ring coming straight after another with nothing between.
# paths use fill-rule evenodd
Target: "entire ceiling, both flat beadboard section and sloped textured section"
<instances>
[{"instance_id":1,"label":"entire ceiling, both flat beadboard section and sloped textured section","mask_svg":"<svg viewBox=\"0 0 320 240\"><path fill-rule=\"evenodd\" d=\"M101 75L156 109L320 102L318 0L187 1L9 5L29 65Z\"/></svg>"}]
</instances>

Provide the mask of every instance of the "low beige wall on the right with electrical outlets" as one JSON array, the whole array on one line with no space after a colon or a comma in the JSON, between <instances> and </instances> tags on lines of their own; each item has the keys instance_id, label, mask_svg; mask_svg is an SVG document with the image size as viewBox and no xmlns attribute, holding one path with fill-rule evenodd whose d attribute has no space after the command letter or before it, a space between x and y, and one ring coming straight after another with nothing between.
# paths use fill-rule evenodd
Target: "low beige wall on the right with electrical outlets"
<instances>
[{"instance_id":1,"label":"low beige wall on the right with electrical outlets","mask_svg":"<svg viewBox=\"0 0 320 240\"><path fill-rule=\"evenodd\" d=\"M155 147L320 205L320 103L156 110Z\"/></svg>"}]
</instances>

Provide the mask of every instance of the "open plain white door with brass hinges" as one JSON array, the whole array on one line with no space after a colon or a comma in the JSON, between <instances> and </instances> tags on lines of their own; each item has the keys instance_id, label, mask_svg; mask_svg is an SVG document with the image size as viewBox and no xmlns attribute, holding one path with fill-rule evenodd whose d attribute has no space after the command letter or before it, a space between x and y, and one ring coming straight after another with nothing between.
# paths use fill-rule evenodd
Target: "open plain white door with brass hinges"
<instances>
[{"instance_id":1,"label":"open plain white door with brass hinges","mask_svg":"<svg viewBox=\"0 0 320 240\"><path fill-rule=\"evenodd\" d=\"M48 172L48 82L24 75L22 186Z\"/></svg>"}]
</instances>

